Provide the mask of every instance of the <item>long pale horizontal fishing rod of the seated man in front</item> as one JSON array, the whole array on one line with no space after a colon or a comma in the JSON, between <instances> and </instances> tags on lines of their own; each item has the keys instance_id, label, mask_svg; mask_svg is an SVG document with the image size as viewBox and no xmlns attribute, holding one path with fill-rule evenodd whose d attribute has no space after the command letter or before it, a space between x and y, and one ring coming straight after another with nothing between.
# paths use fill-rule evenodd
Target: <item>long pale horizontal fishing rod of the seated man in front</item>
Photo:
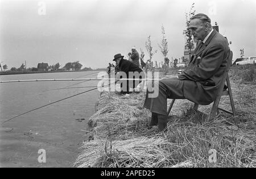
<instances>
[{"instance_id":1,"label":"long pale horizontal fishing rod of the seated man in front","mask_svg":"<svg viewBox=\"0 0 256 179\"><path fill-rule=\"evenodd\" d=\"M120 80L120 81L133 81L133 80L150 80L150 81L159 81L162 79L148 79L148 78L75 78L75 79L42 79L42 80L7 80L7 81L0 81L0 83L10 83L10 82L42 82L42 81L113 81L113 80Z\"/></svg>"}]
</instances>

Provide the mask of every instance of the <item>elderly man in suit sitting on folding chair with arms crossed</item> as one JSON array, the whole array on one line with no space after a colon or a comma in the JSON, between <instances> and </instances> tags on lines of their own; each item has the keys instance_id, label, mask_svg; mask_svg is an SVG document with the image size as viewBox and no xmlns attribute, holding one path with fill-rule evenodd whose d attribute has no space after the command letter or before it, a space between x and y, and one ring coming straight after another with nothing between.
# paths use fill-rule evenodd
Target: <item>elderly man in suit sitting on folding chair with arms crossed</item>
<instances>
[{"instance_id":1,"label":"elderly man in suit sitting on folding chair with arms crossed","mask_svg":"<svg viewBox=\"0 0 256 179\"><path fill-rule=\"evenodd\" d=\"M188 99L199 105L209 105L217 95L230 52L228 41L213 30L205 14L192 17L189 28L199 41L187 69L177 76L167 76L157 82L158 97L149 98L144 107L152 112L150 126L158 124L159 130L167 127L167 98Z\"/></svg>"}]
</instances>

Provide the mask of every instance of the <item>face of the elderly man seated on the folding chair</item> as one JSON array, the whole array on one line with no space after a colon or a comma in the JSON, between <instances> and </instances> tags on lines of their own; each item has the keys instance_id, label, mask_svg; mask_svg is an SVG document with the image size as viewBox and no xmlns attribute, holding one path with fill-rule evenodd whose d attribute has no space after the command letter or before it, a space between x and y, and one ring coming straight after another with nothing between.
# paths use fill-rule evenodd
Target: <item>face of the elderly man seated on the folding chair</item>
<instances>
[{"instance_id":1,"label":"face of the elderly man seated on the folding chair","mask_svg":"<svg viewBox=\"0 0 256 179\"><path fill-rule=\"evenodd\" d=\"M200 19L192 19L189 28L191 30L191 35L196 40L204 40L204 38L207 36L207 26L205 23L201 22Z\"/></svg>"}]
</instances>

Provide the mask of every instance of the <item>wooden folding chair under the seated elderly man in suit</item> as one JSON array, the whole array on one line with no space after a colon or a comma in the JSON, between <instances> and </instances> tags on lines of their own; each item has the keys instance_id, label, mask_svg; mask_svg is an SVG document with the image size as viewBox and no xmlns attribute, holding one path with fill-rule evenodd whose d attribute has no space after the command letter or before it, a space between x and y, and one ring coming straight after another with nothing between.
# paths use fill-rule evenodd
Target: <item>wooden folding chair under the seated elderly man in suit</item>
<instances>
[{"instance_id":1,"label":"wooden folding chair under the seated elderly man in suit","mask_svg":"<svg viewBox=\"0 0 256 179\"><path fill-rule=\"evenodd\" d=\"M220 88L218 89L218 94L217 97L214 100L213 106L212 106L212 110L210 111L208 118L207 118L207 122L210 119L213 119L216 116L216 113L220 114L220 110L224 111L225 113L231 114L233 116L236 116L236 111L235 111L235 107L234 107L234 100L233 100L233 95L232 95L232 90L231 90L231 86L230 86L230 81L229 81L229 68L232 64L232 58L233 58L233 52L230 51L229 53L229 57L228 57L228 66L224 72L224 78L221 82ZM228 88L224 91L224 86L225 86L225 82L228 86ZM220 103L220 99L222 95L229 95L229 99L230 99L230 105L232 107L232 112L225 110L225 109L221 109L220 107L218 107L218 104ZM167 114L169 115L172 109L172 106L174 105L175 99L172 99L172 102L170 104L170 107L167 111ZM198 111L198 107L199 104L194 104L193 109Z\"/></svg>"}]
</instances>

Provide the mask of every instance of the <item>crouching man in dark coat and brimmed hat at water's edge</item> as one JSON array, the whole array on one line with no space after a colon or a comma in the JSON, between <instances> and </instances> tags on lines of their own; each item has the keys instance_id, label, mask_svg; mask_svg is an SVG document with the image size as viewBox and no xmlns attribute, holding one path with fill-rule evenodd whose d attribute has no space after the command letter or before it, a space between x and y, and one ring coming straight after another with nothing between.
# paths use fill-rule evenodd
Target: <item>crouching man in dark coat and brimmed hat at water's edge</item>
<instances>
[{"instance_id":1,"label":"crouching man in dark coat and brimmed hat at water's edge","mask_svg":"<svg viewBox=\"0 0 256 179\"><path fill-rule=\"evenodd\" d=\"M122 73L126 75L125 78L144 78L144 73L143 70L141 68L139 68L138 65L135 65L134 63L132 63L129 60L125 60L123 59L123 56L121 55L121 53L118 53L117 55L114 56L114 60L115 63L118 66L118 73L119 75L122 76ZM129 72L138 72L138 75L135 76L129 76ZM117 74L118 75L118 74ZM122 76L122 78L124 78ZM123 85L123 82L121 83L121 93L122 94L129 94L129 89L130 88L136 88L139 83L141 83L141 80L130 80L130 81L126 81L126 84Z\"/></svg>"}]
</instances>

